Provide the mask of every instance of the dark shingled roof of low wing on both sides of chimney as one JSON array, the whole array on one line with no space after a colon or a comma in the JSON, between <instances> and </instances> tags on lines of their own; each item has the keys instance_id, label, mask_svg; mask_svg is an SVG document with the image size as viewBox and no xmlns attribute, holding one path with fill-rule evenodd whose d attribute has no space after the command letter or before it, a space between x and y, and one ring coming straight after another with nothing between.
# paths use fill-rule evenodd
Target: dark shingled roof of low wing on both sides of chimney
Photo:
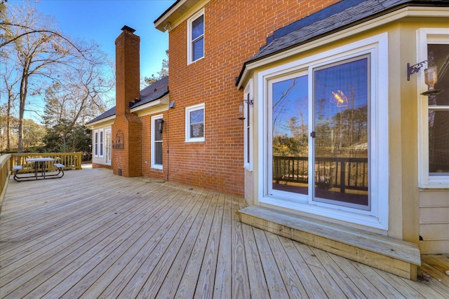
<instances>
[{"instance_id":1,"label":"dark shingled roof of low wing on both sides of chimney","mask_svg":"<svg viewBox=\"0 0 449 299\"><path fill-rule=\"evenodd\" d=\"M149 102L156 101L156 99L161 99L161 97L167 94L168 94L168 77L164 77L161 78L161 80L154 82L152 85L149 85L146 88L140 90L140 102L130 103L130 109L148 104ZM89 120L88 123L86 123L86 125L114 115L115 115L115 106L106 111L105 113L100 114L100 116L97 116L93 120Z\"/></svg>"}]
</instances>

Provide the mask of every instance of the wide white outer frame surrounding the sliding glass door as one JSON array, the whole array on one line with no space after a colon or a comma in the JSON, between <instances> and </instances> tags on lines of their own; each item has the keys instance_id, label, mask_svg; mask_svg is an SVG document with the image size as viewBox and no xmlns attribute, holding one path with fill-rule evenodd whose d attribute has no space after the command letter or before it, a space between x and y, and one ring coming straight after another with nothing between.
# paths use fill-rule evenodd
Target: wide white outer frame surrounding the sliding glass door
<instances>
[{"instance_id":1,"label":"wide white outer frame surrounding the sliding glass door","mask_svg":"<svg viewBox=\"0 0 449 299\"><path fill-rule=\"evenodd\" d=\"M309 103L312 97L312 71L333 62L341 62L352 57L370 54L370 78L371 78L371 101L370 101L370 136L371 152L370 161L374 164L370 167L370 194L371 211L341 207L331 204L314 203L307 198L298 200L280 194L269 194L268 174L270 165L268 162L269 142L271 136L268 129L269 123L269 81L275 78L288 76L289 74L307 71L309 76ZM262 175L258 176L257 200L263 204L302 211L309 214L333 218L338 221L356 223L381 230L388 230L389 223L389 121L388 121L388 34L382 33L371 36L368 39L349 43L345 46L328 50L323 53L304 57L287 64L261 71L257 77L257 94L262 97L257 105L257 125L259 132L258 160ZM309 115L313 115L312 107L309 105ZM312 118L309 118L311 121ZM309 123L309 128L313 127ZM309 144L312 143L309 137ZM308 195L311 196L311 195Z\"/></svg>"}]
</instances>

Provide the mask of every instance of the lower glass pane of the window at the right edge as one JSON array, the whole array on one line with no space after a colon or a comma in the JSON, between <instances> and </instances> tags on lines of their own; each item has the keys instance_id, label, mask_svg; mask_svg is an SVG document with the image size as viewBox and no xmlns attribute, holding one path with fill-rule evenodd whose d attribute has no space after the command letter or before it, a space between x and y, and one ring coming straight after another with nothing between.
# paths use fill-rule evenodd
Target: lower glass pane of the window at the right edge
<instances>
[{"instance_id":1,"label":"lower glass pane of the window at the right edge","mask_svg":"<svg viewBox=\"0 0 449 299\"><path fill-rule=\"evenodd\" d=\"M449 175L449 111L429 110L429 174Z\"/></svg>"}]
</instances>

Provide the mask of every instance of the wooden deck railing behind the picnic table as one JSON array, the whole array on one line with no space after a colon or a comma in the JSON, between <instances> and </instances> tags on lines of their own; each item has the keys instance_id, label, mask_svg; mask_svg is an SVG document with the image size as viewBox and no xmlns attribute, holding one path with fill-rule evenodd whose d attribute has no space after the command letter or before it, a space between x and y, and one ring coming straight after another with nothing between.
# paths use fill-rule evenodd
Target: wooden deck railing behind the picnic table
<instances>
[{"instance_id":1,"label":"wooden deck railing behind the picnic table","mask_svg":"<svg viewBox=\"0 0 449 299\"><path fill-rule=\"evenodd\" d=\"M53 158L54 162L46 162L45 170L50 171L53 168L53 163L60 163L65 165L65 169L81 169L82 153L13 153L11 154L10 171L13 171L13 166L22 165L21 172L34 172L34 162L27 162L27 158ZM41 169L38 169L41 170Z\"/></svg>"}]
</instances>

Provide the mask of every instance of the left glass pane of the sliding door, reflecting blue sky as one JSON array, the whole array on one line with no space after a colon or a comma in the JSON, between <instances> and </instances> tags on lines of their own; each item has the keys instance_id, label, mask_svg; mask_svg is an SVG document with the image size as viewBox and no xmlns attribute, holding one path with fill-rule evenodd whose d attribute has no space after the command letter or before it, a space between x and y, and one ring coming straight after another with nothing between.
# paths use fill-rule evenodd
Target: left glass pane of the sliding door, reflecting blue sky
<instances>
[{"instance_id":1,"label":"left glass pane of the sliding door, reflecting blue sky","mask_svg":"<svg viewBox=\"0 0 449 299\"><path fill-rule=\"evenodd\" d=\"M274 83L272 88L272 188L307 194L307 76Z\"/></svg>"}]
</instances>

